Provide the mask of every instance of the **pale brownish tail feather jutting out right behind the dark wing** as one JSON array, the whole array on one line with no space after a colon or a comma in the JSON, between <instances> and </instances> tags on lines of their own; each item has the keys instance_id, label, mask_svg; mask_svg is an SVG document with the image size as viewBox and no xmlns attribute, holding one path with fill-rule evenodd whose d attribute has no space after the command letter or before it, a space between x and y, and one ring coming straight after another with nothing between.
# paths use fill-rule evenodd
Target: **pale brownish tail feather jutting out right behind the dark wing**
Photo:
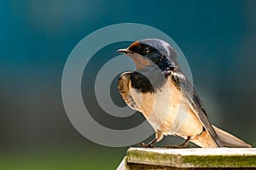
<instances>
[{"instance_id":1,"label":"pale brownish tail feather jutting out right behind the dark wing","mask_svg":"<svg viewBox=\"0 0 256 170\"><path fill-rule=\"evenodd\" d=\"M250 144L245 143L241 139L236 138L230 133L225 132L224 130L219 129L218 127L214 127L214 130L218 134L220 141L224 144L224 147L229 148L251 148Z\"/></svg>"}]
</instances>

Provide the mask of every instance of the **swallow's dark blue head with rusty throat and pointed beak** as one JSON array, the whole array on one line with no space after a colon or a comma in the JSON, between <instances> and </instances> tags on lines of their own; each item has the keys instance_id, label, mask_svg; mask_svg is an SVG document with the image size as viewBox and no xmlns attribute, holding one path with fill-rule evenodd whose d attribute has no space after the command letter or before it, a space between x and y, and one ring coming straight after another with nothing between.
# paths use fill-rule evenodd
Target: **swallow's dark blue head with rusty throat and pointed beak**
<instances>
[{"instance_id":1,"label":"swallow's dark blue head with rusty throat and pointed beak","mask_svg":"<svg viewBox=\"0 0 256 170\"><path fill-rule=\"evenodd\" d=\"M131 43L128 48L119 49L119 53L131 57L137 70L158 65L162 71L177 68L177 53L167 42L160 39L144 39Z\"/></svg>"}]
</instances>

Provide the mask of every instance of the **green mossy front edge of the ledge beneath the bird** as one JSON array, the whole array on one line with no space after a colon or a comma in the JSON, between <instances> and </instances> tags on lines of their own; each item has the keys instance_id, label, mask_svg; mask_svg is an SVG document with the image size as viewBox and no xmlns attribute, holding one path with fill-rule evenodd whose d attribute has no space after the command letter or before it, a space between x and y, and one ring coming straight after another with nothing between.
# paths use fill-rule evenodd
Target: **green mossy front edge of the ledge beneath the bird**
<instances>
[{"instance_id":1,"label":"green mossy front edge of the ledge beneath the bird","mask_svg":"<svg viewBox=\"0 0 256 170\"><path fill-rule=\"evenodd\" d=\"M172 152L159 153L152 150L127 150L127 163L168 167L256 167L254 155L182 156Z\"/></svg>"}]
</instances>

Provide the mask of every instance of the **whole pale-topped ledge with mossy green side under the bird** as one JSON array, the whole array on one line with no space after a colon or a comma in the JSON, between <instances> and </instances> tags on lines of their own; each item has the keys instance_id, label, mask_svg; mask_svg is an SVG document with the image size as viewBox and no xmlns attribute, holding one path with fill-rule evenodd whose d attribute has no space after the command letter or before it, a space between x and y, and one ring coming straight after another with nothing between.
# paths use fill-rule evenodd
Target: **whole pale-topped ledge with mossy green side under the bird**
<instances>
[{"instance_id":1,"label":"whole pale-topped ledge with mossy green side under the bird","mask_svg":"<svg viewBox=\"0 0 256 170\"><path fill-rule=\"evenodd\" d=\"M256 148L130 148L121 164L119 169L256 169Z\"/></svg>"}]
</instances>

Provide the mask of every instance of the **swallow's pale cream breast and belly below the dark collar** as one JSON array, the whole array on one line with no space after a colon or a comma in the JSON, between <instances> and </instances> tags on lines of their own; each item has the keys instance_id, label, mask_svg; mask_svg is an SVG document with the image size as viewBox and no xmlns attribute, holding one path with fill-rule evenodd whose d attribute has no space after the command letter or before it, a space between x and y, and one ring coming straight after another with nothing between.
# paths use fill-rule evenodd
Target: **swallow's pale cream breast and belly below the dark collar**
<instances>
[{"instance_id":1,"label":"swallow's pale cream breast and belly below the dark collar","mask_svg":"<svg viewBox=\"0 0 256 170\"><path fill-rule=\"evenodd\" d=\"M131 83L129 86L132 99L155 130L158 129L165 135L178 136L194 136L201 133L201 122L170 77L162 88L154 89L155 93L140 93L139 90L131 88Z\"/></svg>"}]
</instances>

